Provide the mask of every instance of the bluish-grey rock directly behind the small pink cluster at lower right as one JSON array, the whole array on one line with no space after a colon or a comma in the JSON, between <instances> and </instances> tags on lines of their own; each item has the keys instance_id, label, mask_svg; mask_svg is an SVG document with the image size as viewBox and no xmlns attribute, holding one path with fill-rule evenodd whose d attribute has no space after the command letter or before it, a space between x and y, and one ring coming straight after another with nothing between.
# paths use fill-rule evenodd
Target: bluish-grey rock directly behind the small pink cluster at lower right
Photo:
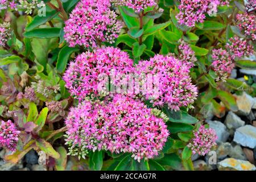
<instances>
[{"instance_id":1,"label":"bluish-grey rock directly behind the small pink cluster at lower right","mask_svg":"<svg viewBox=\"0 0 256 182\"><path fill-rule=\"evenodd\" d=\"M229 133L226 130L226 126L220 121L207 121L211 129L216 131L218 139L216 142L226 142L229 138Z\"/></svg>"}]
</instances>

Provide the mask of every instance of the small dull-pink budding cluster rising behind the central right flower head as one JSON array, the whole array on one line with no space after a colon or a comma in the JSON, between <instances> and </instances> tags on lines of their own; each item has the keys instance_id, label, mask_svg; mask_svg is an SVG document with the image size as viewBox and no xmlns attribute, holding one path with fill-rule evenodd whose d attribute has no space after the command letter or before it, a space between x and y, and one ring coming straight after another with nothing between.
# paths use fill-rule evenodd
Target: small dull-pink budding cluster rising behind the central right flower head
<instances>
[{"instance_id":1,"label":"small dull-pink budding cluster rising behind the central right flower head","mask_svg":"<svg viewBox=\"0 0 256 182\"><path fill-rule=\"evenodd\" d=\"M197 61L197 58L195 56L195 52L189 47L187 43L185 43L184 40L179 40L179 59L183 61L184 64L186 64L188 67L193 67L194 63Z\"/></svg>"}]
</instances>

